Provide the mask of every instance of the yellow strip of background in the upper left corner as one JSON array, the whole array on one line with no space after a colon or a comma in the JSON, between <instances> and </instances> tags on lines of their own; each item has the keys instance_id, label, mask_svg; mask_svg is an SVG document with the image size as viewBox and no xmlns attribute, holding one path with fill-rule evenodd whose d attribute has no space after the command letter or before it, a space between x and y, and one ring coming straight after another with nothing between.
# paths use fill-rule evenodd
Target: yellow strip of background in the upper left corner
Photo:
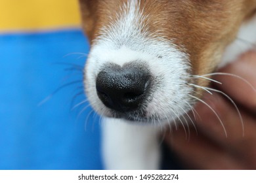
<instances>
[{"instance_id":1,"label":"yellow strip of background in the upper left corner","mask_svg":"<svg viewBox=\"0 0 256 183\"><path fill-rule=\"evenodd\" d=\"M78 27L78 0L0 0L0 31Z\"/></svg>"}]
</instances>

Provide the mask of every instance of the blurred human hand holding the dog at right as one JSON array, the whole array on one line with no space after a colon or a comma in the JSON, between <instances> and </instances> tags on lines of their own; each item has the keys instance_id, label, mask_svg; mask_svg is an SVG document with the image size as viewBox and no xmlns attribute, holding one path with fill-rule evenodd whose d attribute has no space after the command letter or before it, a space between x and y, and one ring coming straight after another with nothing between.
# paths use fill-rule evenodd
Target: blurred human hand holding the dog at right
<instances>
[{"instance_id":1,"label":"blurred human hand holding the dog at right","mask_svg":"<svg viewBox=\"0 0 256 183\"><path fill-rule=\"evenodd\" d=\"M205 93L204 101L221 122L207 105L198 103L197 131L190 128L189 140L184 130L173 130L165 140L188 169L256 169L256 52L244 54L218 72L238 75L251 84L235 76L214 76L222 83L215 89L238 105L243 125L236 107L222 93Z\"/></svg>"}]
</instances>

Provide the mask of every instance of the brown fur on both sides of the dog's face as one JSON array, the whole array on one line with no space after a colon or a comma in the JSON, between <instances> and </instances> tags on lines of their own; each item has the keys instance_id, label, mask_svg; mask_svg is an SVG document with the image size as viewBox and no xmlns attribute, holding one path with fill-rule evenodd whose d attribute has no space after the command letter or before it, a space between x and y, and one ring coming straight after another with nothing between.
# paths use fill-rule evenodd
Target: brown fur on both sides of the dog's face
<instances>
[{"instance_id":1,"label":"brown fur on both sides of the dog's face","mask_svg":"<svg viewBox=\"0 0 256 183\"><path fill-rule=\"evenodd\" d=\"M80 0L83 29L91 44L100 27L118 17L127 0ZM190 56L192 75L215 69L224 48L235 39L238 28L256 9L256 0L144 0L140 9L148 16L148 36L171 39ZM205 80L197 80L200 86Z\"/></svg>"}]
</instances>

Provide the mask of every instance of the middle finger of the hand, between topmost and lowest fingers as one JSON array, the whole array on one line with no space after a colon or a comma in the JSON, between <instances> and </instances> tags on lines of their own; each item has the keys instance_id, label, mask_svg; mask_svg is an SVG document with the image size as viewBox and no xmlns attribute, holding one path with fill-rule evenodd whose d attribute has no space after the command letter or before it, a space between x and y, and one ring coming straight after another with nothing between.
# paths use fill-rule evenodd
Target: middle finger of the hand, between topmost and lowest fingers
<instances>
[{"instance_id":1,"label":"middle finger of the hand, between topmost and lowest fingers","mask_svg":"<svg viewBox=\"0 0 256 183\"><path fill-rule=\"evenodd\" d=\"M218 93L213 95L207 93L205 98L205 102L212 110L203 103L198 103L195 108L200 116L196 124L202 129L203 134L207 135L212 141L215 141L236 158L242 158L252 167L255 167L256 119L240 110L244 123L242 125L237 110L221 95ZM219 118L217 118L216 114Z\"/></svg>"}]
</instances>

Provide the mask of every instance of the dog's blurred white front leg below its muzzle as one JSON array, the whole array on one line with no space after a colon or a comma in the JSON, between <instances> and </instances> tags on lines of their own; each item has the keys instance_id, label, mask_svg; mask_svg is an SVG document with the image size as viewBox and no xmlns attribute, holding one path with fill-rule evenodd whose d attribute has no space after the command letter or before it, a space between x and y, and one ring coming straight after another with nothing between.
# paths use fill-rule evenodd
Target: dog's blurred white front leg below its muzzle
<instances>
[{"instance_id":1,"label":"dog's blurred white front leg below its muzzle","mask_svg":"<svg viewBox=\"0 0 256 183\"><path fill-rule=\"evenodd\" d=\"M129 124L105 118L102 150L107 169L159 169L158 130L152 125Z\"/></svg>"}]
</instances>

